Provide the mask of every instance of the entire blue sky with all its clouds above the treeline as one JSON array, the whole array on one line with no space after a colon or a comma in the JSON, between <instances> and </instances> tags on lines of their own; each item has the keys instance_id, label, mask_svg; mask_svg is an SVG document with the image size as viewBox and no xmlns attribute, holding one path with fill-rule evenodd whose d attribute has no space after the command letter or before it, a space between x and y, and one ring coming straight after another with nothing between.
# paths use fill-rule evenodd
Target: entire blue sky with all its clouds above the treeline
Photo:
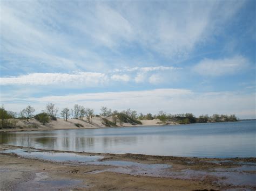
<instances>
[{"instance_id":1,"label":"entire blue sky with all its clouds above the treeline","mask_svg":"<svg viewBox=\"0 0 256 191\"><path fill-rule=\"evenodd\" d=\"M0 103L256 118L256 1L0 1Z\"/></svg>"}]
</instances>

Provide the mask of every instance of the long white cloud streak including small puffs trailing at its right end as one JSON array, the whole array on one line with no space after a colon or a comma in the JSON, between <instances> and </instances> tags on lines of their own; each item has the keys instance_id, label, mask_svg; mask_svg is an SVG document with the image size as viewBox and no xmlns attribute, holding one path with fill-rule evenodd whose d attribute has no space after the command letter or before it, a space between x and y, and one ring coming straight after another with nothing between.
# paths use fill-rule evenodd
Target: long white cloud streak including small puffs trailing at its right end
<instances>
[{"instance_id":1,"label":"long white cloud streak including small puffs trailing at its right end","mask_svg":"<svg viewBox=\"0 0 256 191\"><path fill-rule=\"evenodd\" d=\"M0 77L1 85L15 85L15 84L29 84L29 85L50 85L50 84L71 84L72 86L80 85L84 86L101 86L112 81L128 82L135 81L136 83L142 83L146 79L153 84L161 79L159 73L164 73L166 70L175 70L180 68L174 67L136 67L136 68L125 68L116 69L109 73L96 73L96 72L73 72L68 73L31 73L21 76L9 76ZM136 76L130 73L133 71L139 71ZM151 77L147 76L147 72L158 72L156 75ZM124 74L127 73L127 74ZM133 78L134 77L134 78ZM133 80L134 79L134 80Z\"/></svg>"}]
</instances>

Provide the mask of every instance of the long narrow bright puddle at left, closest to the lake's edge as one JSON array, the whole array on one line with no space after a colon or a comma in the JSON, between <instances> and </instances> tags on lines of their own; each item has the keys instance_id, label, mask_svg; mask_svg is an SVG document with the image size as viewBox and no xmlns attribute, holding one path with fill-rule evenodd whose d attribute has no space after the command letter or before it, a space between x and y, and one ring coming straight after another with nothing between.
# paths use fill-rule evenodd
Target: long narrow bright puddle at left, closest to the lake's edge
<instances>
[{"instance_id":1,"label":"long narrow bright puddle at left, closest to the lake's edge","mask_svg":"<svg viewBox=\"0 0 256 191\"><path fill-rule=\"evenodd\" d=\"M65 161L73 161L73 162L92 162L103 159L104 157L100 157L97 155L89 156L89 155L79 155L75 153L58 153L58 152L40 152L34 149L23 149L18 148L14 150L6 150L1 151L2 153L15 153L21 155L26 158L37 158L43 160L50 160L55 162L65 162Z\"/></svg>"}]
</instances>

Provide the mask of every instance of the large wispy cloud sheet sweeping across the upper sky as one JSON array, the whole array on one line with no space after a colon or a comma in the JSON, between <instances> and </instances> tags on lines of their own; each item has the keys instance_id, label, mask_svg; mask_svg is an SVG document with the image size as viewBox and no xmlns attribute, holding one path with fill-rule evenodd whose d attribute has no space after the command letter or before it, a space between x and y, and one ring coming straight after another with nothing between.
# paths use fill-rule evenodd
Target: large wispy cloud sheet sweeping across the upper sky
<instances>
[{"instance_id":1,"label":"large wispy cloud sheet sweeping across the upper sky","mask_svg":"<svg viewBox=\"0 0 256 191\"><path fill-rule=\"evenodd\" d=\"M212 32L244 4L163 3L165 9L143 2L1 1L1 54L8 61L3 65L23 72L49 68L102 72L119 60L130 64L127 52L120 51L125 48L175 60L211 39ZM150 60L145 55L136 54L144 66ZM42 61L45 67L39 65Z\"/></svg>"}]
</instances>

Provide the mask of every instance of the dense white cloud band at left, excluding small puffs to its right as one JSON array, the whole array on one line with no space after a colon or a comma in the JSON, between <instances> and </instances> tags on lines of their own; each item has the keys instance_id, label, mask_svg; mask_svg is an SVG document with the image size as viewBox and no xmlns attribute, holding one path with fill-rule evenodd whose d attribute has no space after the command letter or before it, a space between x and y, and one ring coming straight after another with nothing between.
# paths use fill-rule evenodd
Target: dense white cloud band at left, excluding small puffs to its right
<instances>
[{"instance_id":1,"label":"dense white cloud band at left, excluding small puffs to its right","mask_svg":"<svg viewBox=\"0 0 256 191\"><path fill-rule=\"evenodd\" d=\"M49 85L49 84L76 84L82 86L99 86L109 81L109 77L102 73L77 72L73 74L63 73L32 73L18 77L1 77L0 85L29 84L29 85Z\"/></svg>"}]
</instances>

